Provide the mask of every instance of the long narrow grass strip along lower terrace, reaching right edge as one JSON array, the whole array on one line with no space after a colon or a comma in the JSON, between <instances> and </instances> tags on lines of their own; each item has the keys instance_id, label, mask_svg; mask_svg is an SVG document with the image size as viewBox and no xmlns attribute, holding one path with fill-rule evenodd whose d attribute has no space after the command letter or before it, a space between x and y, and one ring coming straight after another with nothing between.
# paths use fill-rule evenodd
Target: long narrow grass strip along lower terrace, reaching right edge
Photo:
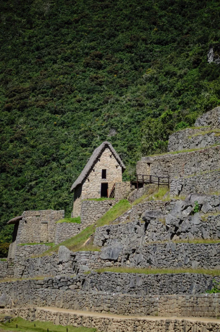
<instances>
[{"instance_id":1,"label":"long narrow grass strip along lower terrace, reaching right edge","mask_svg":"<svg viewBox=\"0 0 220 332\"><path fill-rule=\"evenodd\" d=\"M115 267L103 268L95 270L95 272L115 272L115 273L144 273L144 274L166 274L166 273L201 273L211 276L219 276L220 270L205 270L205 269L137 269L129 267Z\"/></svg>"}]
</instances>

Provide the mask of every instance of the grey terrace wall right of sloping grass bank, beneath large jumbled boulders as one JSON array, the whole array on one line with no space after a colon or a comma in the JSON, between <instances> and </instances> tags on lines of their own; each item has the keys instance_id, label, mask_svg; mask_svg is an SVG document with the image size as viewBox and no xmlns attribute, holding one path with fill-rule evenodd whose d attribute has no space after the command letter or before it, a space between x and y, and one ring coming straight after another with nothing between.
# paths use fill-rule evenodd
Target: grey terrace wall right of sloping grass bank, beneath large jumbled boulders
<instances>
[{"instance_id":1,"label":"grey terrace wall right of sloping grass bank, beneath large jumbled boulders","mask_svg":"<svg viewBox=\"0 0 220 332\"><path fill-rule=\"evenodd\" d=\"M134 247L148 242L170 239L220 239L220 214L209 216L205 221L202 221L197 214L194 217L185 217L180 226L179 224L176 226L175 220L173 225L165 225L160 220L150 222L136 220L126 224L97 227L93 244L108 246L120 242L123 245Z\"/></svg>"}]
</instances>

